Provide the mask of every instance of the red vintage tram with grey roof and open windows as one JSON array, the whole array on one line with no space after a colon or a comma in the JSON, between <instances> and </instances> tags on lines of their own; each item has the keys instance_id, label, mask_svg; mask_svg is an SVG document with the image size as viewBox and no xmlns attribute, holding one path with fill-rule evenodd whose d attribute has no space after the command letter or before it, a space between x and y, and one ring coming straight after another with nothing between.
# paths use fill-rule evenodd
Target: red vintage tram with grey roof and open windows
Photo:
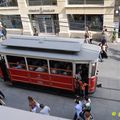
<instances>
[{"instance_id":1,"label":"red vintage tram with grey roof and open windows","mask_svg":"<svg viewBox=\"0 0 120 120\"><path fill-rule=\"evenodd\" d=\"M75 92L75 76L85 69L88 92L93 93L99 52L98 46L78 39L11 37L0 45L0 76L4 81Z\"/></svg>"}]
</instances>

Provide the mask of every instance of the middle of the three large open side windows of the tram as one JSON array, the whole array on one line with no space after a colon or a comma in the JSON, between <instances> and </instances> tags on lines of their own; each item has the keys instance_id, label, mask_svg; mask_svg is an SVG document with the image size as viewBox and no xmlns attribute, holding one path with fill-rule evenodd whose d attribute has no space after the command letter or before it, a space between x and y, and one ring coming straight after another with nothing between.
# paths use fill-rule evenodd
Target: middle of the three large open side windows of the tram
<instances>
[{"instance_id":1,"label":"middle of the three large open side windows of the tram","mask_svg":"<svg viewBox=\"0 0 120 120\"><path fill-rule=\"evenodd\" d=\"M47 60L27 58L28 69L36 72L48 72Z\"/></svg>"}]
</instances>

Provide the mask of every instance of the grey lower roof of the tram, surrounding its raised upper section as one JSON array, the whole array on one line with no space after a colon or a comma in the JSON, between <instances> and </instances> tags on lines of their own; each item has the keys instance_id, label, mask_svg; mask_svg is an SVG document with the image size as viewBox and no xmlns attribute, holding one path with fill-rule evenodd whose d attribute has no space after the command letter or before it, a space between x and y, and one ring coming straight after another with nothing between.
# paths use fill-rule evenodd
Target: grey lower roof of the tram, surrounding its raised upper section
<instances>
[{"instance_id":1,"label":"grey lower roof of the tram, surrounding its raised upper section","mask_svg":"<svg viewBox=\"0 0 120 120\"><path fill-rule=\"evenodd\" d=\"M78 44L81 46L81 49L78 52L65 52L65 51L60 52L60 51L51 51L51 50L44 51L44 50L33 50L33 49L26 49L26 48L20 49L16 47L7 47L7 44L5 43L7 43L7 41L9 41L10 43L11 40L12 39L6 40L0 45L0 54L35 57L35 58L46 58L46 59L48 58L48 59L69 60L69 61L79 61L79 60L94 61L98 59L99 52L100 52L99 46L92 45L92 44L85 44L81 42L78 42ZM70 40L78 41L78 39L70 39Z\"/></svg>"}]
</instances>

